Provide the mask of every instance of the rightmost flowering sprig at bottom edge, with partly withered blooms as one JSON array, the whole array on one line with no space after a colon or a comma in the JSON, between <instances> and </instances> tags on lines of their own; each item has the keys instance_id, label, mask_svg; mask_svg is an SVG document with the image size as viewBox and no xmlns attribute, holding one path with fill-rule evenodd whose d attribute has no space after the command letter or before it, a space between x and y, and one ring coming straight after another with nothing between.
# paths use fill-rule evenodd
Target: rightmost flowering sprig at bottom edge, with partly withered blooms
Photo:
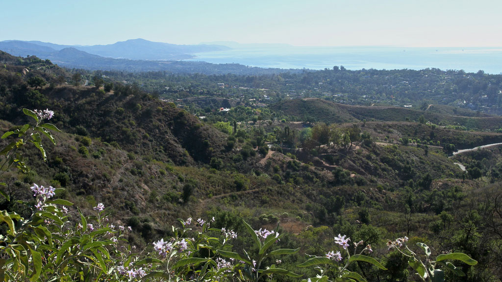
<instances>
[{"instance_id":1,"label":"rightmost flowering sprig at bottom edge, with partly withered blooms","mask_svg":"<svg viewBox=\"0 0 502 282\"><path fill-rule=\"evenodd\" d=\"M417 243L417 246L424 252L418 254L412 251L408 245L408 237L397 238L394 241L387 243L389 249L396 249L403 255L408 257L408 264L417 271L416 274L422 281L442 282L444 281L444 271L441 267L450 269L458 276L465 276L465 273L448 260L459 260L468 265L476 265L477 261L470 258L465 253L453 252L440 254L435 260L431 257L431 249L424 243Z\"/></svg>"}]
</instances>

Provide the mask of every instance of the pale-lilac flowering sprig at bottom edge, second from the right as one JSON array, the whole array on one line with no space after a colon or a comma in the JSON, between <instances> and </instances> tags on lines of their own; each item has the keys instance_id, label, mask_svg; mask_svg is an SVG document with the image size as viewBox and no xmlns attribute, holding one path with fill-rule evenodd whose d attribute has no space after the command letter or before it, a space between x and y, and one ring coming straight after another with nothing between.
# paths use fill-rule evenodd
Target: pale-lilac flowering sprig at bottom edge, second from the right
<instances>
[{"instance_id":1,"label":"pale-lilac flowering sprig at bottom edge, second from the right","mask_svg":"<svg viewBox=\"0 0 502 282\"><path fill-rule=\"evenodd\" d=\"M358 246L363 246L364 242L359 241L354 244L354 253L350 255L349 250L348 250L348 242L350 241L350 238L345 238L345 235L338 234L334 238L335 243L338 245L338 250L335 252L333 250L329 251L326 253L324 256L316 256L316 255L311 255L309 258L298 265L298 267L308 267L308 266L314 266L314 265L323 265L323 267L317 266L320 270L320 275L317 275L314 278L308 278L302 280L302 282L325 282L325 281L330 281L329 277L326 276L324 273L327 272L328 269L334 270L335 272L335 277L332 278L334 281L366 281L364 277L362 277L359 273L353 272L348 270L348 266L350 263L354 261L364 261L364 262L369 262L373 264L374 266L387 270L380 262L378 262L376 259L363 255L363 253L371 253L371 246L366 245L359 253L357 253L357 247Z\"/></svg>"}]
</instances>

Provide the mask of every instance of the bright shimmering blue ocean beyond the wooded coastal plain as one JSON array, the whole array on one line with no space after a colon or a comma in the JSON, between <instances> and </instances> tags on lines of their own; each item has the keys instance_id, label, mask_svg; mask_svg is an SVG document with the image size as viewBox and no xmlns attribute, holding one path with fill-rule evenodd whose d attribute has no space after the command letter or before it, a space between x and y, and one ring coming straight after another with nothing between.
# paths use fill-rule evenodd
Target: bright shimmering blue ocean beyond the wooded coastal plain
<instances>
[{"instance_id":1,"label":"bright shimmering blue ocean beyond the wooded coastal plain","mask_svg":"<svg viewBox=\"0 0 502 282\"><path fill-rule=\"evenodd\" d=\"M195 53L194 59L215 64L283 69L324 69L344 66L360 69L464 70L502 73L502 47L263 47Z\"/></svg>"}]
</instances>

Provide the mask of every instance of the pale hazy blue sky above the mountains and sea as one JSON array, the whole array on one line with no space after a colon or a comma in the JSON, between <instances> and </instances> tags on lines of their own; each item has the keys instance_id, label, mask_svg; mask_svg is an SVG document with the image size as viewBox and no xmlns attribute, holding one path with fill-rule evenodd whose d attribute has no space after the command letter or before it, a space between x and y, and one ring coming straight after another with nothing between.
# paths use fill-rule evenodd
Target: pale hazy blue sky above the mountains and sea
<instances>
[{"instance_id":1,"label":"pale hazy blue sky above the mountains and sea","mask_svg":"<svg viewBox=\"0 0 502 282\"><path fill-rule=\"evenodd\" d=\"M502 46L500 0L2 1L0 41Z\"/></svg>"}]
</instances>

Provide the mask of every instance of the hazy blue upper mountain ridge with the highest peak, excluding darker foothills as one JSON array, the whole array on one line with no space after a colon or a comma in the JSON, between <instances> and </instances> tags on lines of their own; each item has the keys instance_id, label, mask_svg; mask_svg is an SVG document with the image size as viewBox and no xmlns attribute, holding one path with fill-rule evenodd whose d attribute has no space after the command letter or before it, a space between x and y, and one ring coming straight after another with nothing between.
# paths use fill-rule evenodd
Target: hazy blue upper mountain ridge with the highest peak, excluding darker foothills
<instances>
[{"instance_id":1,"label":"hazy blue upper mountain ridge with the highest peak, excluding darker foothills","mask_svg":"<svg viewBox=\"0 0 502 282\"><path fill-rule=\"evenodd\" d=\"M6 40L0 42L0 50L16 56L27 55L54 56L57 51L74 48L92 55L114 59L130 60L181 60L192 58L193 53L228 50L222 45L176 45L153 42L144 39L131 39L108 45L59 45L41 41Z\"/></svg>"}]
</instances>

